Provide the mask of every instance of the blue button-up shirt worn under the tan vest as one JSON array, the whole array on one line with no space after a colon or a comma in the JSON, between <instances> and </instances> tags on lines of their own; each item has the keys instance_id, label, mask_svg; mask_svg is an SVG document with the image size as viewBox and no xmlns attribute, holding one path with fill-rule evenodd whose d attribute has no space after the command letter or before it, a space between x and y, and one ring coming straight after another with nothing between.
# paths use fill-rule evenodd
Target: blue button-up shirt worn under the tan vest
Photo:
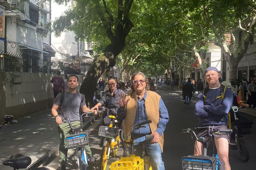
<instances>
[{"instance_id":1,"label":"blue button-up shirt worn under the tan vest","mask_svg":"<svg viewBox=\"0 0 256 170\"><path fill-rule=\"evenodd\" d=\"M143 96L143 98L140 99L139 96L137 96L137 111L136 111L136 115L135 115L135 119L134 119L134 123L133 123L134 125L148 120L147 111L146 111L146 107L145 107L146 97L147 97L147 91L145 92L145 95ZM117 111L118 117L121 118L122 120L124 120L125 114L126 114L125 108L119 107L118 111ZM169 114L168 114L167 108L165 107L162 98L160 98L160 100L159 100L159 122L157 124L157 129L156 129L156 132L159 135L163 134L168 121L169 121ZM135 135L151 134L152 132L150 130L149 124L146 124L144 126L145 126L145 128L140 128L138 130L135 130L134 134Z\"/></svg>"}]
</instances>

